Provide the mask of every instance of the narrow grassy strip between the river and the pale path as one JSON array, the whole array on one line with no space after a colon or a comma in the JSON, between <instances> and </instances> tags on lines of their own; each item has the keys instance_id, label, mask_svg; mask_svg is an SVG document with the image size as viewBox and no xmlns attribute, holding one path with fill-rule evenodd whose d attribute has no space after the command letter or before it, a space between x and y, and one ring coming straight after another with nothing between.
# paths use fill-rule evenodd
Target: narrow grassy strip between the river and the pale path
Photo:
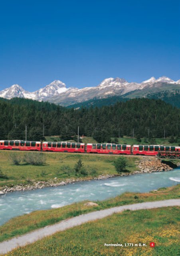
<instances>
[{"instance_id":1,"label":"narrow grassy strip between the river and the pale path","mask_svg":"<svg viewBox=\"0 0 180 256\"><path fill-rule=\"evenodd\" d=\"M116 196L115 198L96 201L98 206L93 207L85 206L85 202L78 202L57 209L35 211L30 214L24 214L22 216L12 218L4 225L0 226L0 242L87 212L103 210L125 204L151 202L179 197L180 185L177 185L169 188L160 188L158 191L149 193L127 192L120 196Z\"/></svg>"}]
</instances>

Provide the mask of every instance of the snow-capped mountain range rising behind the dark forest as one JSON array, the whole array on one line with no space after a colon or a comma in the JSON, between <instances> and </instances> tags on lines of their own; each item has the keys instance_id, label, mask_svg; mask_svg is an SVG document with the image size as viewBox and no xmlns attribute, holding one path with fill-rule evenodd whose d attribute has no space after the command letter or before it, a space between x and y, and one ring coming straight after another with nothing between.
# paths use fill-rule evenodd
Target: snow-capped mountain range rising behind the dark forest
<instances>
[{"instance_id":1,"label":"snow-capped mountain range rising behind the dark forest","mask_svg":"<svg viewBox=\"0 0 180 256\"><path fill-rule=\"evenodd\" d=\"M35 92L28 92L18 84L14 84L9 88L0 91L0 97L7 99L14 97L30 98L33 100L49 101L68 106L95 97L108 98L109 96L125 95L134 91L138 94L138 92L152 89L162 91L163 88L167 90L173 86L180 89L180 80L174 82L174 80L166 76L162 76L158 79L151 77L141 83L127 82L123 78L106 78L97 86L81 89L74 87L67 88L63 82L55 80Z\"/></svg>"}]
</instances>

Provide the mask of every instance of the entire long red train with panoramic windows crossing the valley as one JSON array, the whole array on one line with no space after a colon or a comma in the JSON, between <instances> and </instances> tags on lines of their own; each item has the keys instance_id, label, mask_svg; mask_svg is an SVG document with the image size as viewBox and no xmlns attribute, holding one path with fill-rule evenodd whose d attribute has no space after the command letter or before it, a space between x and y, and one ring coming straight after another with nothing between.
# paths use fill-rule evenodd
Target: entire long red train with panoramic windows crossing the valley
<instances>
[{"instance_id":1,"label":"entire long red train with panoramic windows crossing the valley","mask_svg":"<svg viewBox=\"0 0 180 256\"><path fill-rule=\"evenodd\" d=\"M79 152L99 154L126 154L156 156L158 151L179 152L178 146L160 145L121 145L121 144L85 144L75 142L40 142L24 140L0 140L0 150L33 150L50 152Z\"/></svg>"}]
</instances>

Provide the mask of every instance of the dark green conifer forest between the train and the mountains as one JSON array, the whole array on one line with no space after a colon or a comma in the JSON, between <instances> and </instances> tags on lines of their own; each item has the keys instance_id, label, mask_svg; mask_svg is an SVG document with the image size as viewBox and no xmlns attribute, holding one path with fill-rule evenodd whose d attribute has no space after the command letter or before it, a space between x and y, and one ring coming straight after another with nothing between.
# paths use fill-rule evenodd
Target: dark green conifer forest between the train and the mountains
<instances>
[{"instance_id":1,"label":"dark green conifer forest between the train and the mountains","mask_svg":"<svg viewBox=\"0 0 180 256\"><path fill-rule=\"evenodd\" d=\"M0 139L44 140L58 135L70 140L79 135L98 142L111 137L135 136L163 138L180 136L180 109L147 98L116 102L111 106L65 108L29 99L0 99ZM165 133L165 134L164 134Z\"/></svg>"}]
</instances>

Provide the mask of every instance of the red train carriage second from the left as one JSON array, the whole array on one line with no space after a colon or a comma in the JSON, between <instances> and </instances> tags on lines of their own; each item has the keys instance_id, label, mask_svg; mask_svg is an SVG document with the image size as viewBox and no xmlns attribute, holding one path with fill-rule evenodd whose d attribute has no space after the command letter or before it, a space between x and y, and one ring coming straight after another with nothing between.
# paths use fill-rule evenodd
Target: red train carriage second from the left
<instances>
[{"instance_id":1,"label":"red train carriage second from the left","mask_svg":"<svg viewBox=\"0 0 180 256\"><path fill-rule=\"evenodd\" d=\"M75 142L43 142L43 151L53 151L53 152L85 152L84 143Z\"/></svg>"}]
</instances>

